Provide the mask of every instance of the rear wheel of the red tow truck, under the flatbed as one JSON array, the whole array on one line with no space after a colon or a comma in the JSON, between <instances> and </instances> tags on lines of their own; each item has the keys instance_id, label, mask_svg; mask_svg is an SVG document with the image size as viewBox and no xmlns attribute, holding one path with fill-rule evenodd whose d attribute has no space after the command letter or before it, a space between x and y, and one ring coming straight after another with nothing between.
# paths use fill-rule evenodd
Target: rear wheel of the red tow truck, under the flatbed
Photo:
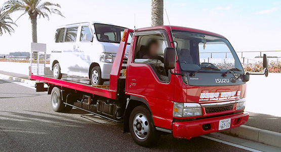
<instances>
[{"instance_id":1,"label":"rear wheel of the red tow truck, under the flatbed","mask_svg":"<svg viewBox=\"0 0 281 152\"><path fill-rule=\"evenodd\" d=\"M63 112L63 111L70 111L72 109L72 106L66 105L63 103L63 100L61 100L61 90L57 87L54 87L51 93L51 101L52 101L52 107L54 111L57 112ZM69 104L73 104L73 99L68 99Z\"/></svg>"}]
</instances>

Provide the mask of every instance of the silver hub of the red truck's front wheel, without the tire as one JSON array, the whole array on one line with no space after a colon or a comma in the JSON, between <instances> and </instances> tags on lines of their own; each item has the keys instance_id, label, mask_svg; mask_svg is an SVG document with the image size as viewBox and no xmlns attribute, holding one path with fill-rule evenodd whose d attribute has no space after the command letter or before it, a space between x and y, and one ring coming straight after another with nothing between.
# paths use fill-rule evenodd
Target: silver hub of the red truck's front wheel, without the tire
<instances>
[{"instance_id":1,"label":"silver hub of the red truck's front wheel, without the tire","mask_svg":"<svg viewBox=\"0 0 281 152\"><path fill-rule=\"evenodd\" d=\"M133 120L133 130L139 139L145 139L149 133L149 126L147 118L138 113Z\"/></svg>"}]
</instances>

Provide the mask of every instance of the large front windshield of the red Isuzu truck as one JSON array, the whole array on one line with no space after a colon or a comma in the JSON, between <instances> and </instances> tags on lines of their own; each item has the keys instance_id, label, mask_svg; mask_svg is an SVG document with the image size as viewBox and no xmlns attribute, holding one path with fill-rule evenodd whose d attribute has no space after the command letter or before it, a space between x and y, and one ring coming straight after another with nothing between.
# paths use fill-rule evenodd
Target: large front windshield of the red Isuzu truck
<instances>
[{"instance_id":1,"label":"large front windshield of the red Isuzu truck","mask_svg":"<svg viewBox=\"0 0 281 152\"><path fill-rule=\"evenodd\" d=\"M243 71L235 51L226 39L186 31L173 31L173 36L182 71Z\"/></svg>"}]
</instances>

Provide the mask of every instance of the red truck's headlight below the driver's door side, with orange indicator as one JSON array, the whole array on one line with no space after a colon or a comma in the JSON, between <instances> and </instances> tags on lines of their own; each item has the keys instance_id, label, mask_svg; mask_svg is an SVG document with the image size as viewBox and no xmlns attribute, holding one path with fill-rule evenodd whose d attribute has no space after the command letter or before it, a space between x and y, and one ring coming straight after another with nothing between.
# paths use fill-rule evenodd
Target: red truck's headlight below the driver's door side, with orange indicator
<instances>
[{"instance_id":1,"label":"red truck's headlight below the driver's door side, with orange indicator","mask_svg":"<svg viewBox=\"0 0 281 152\"><path fill-rule=\"evenodd\" d=\"M193 117L202 116L202 108L198 103L174 102L174 117Z\"/></svg>"}]
</instances>

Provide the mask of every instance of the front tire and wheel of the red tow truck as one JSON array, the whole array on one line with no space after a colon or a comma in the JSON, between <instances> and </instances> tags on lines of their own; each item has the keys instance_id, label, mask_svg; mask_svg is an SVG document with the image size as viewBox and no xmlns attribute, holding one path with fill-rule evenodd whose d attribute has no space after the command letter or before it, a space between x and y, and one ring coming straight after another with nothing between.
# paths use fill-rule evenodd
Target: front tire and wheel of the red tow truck
<instances>
[{"instance_id":1,"label":"front tire and wheel of the red tow truck","mask_svg":"<svg viewBox=\"0 0 281 152\"><path fill-rule=\"evenodd\" d=\"M155 145L160 134L153 125L150 111L144 105L133 109L129 119L129 128L133 140L141 146Z\"/></svg>"}]
</instances>

